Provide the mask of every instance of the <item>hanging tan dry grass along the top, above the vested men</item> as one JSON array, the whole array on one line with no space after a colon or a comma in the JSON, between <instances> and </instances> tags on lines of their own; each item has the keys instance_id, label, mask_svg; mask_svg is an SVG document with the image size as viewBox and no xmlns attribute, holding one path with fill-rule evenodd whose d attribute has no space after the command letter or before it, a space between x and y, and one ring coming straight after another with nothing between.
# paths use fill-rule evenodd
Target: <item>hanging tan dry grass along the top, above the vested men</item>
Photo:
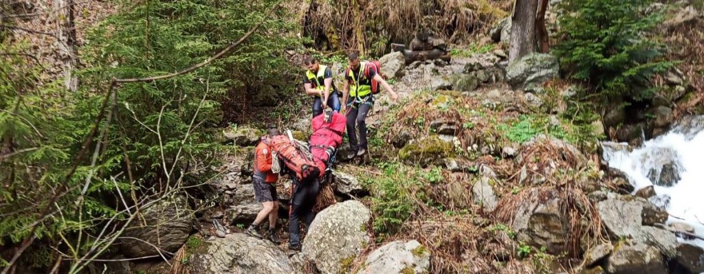
<instances>
[{"instance_id":1,"label":"hanging tan dry grass along the top, above the vested men","mask_svg":"<svg viewBox=\"0 0 704 274\"><path fill-rule=\"evenodd\" d=\"M388 41L408 43L421 28L433 30L437 38L451 43L477 37L508 15L510 3L508 0L322 0L311 1L301 18L306 34L316 41L324 38L330 50L379 54Z\"/></svg>"}]
</instances>

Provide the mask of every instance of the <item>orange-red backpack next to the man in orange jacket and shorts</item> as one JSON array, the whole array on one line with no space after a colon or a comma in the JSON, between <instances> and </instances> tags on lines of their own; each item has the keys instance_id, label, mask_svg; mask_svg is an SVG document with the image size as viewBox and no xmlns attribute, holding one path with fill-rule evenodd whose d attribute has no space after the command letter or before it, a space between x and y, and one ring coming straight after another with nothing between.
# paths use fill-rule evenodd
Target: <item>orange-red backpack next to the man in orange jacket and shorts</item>
<instances>
[{"instance_id":1,"label":"orange-red backpack next to the man in orange jacket and shorts","mask_svg":"<svg viewBox=\"0 0 704 274\"><path fill-rule=\"evenodd\" d=\"M279 135L265 141L286 167L296 174L299 183L320 175L320 168L311 157L287 136Z\"/></svg>"}]
</instances>

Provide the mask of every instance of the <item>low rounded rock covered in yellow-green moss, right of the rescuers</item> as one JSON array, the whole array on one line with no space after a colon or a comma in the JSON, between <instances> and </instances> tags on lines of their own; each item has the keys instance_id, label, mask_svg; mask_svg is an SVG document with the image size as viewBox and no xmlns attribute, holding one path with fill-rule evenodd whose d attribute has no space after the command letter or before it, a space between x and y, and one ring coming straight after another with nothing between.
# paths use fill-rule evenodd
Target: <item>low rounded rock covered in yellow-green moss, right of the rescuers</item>
<instances>
[{"instance_id":1,"label":"low rounded rock covered in yellow-green moss, right of the rescuers","mask_svg":"<svg viewBox=\"0 0 704 274\"><path fill-rule=\"evenodd\" d=\"M429 136L403 146L398 151L398 158L407 164L427 166L451 157L452 151L451 143L442 141L438 136Z\"/></svg>"}]
</instances>

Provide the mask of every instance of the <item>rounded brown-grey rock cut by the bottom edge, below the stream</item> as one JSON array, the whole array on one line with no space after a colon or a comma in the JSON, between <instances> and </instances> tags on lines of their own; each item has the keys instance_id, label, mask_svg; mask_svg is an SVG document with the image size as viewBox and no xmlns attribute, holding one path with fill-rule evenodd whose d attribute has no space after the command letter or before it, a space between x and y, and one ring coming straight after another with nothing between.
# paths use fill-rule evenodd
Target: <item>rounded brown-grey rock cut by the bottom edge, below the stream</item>
<instances>
[{"instance_id":1,"label":"rounded brown-grey rock cut by the bottom edge, below the stream","mask_svg":"<svg viewBox=\"0 0 704 274\"><path fill-rule=\"evenodd\" d=\"M606 270L619 274L667 273L658 249L630 241L617 244L606 261Z\"/></svg>"}]
</instances>

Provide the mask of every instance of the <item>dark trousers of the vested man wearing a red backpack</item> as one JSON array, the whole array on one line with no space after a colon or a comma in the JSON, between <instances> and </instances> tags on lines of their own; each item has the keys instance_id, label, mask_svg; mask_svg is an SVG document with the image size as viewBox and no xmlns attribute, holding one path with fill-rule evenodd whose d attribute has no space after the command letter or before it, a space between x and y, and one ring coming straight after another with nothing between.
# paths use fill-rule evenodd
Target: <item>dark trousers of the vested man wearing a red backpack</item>
<instances>
[{"instance_id":1,"label":"dark trousers of the vested man wearing a red backpack","mask_svg":"<svg viewBox=\"0 0 704 274\"><path fill-rule=\"evenodd\" d=\"M374 105L374 98L361 99L361 101L360 103L355 97L349 97L347 100L347 138L352 151L367 149L366 120L367 113ZM356 126L359 126L359 143L357 143Z\"/></svg>"}]
</instances>

